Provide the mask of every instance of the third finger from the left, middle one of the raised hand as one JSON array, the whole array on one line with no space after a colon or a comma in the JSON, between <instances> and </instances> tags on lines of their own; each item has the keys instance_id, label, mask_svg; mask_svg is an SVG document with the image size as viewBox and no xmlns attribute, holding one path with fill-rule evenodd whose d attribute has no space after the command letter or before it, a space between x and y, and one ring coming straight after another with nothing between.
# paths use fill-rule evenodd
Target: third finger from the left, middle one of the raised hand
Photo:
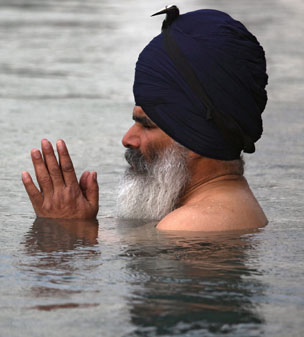
<instances>
[{"instance_id":1,"label":"third finger from the left, middle one of the raised hand","mask_svg":"<svg viewBox=\"0 0 304 337\"><path fill-rule=\"evenodd\" d=\"M52 144L47 139L42 139L41 148L54 188L64 186L61 169L57 162Z\"/></svg>"}]
</instances>

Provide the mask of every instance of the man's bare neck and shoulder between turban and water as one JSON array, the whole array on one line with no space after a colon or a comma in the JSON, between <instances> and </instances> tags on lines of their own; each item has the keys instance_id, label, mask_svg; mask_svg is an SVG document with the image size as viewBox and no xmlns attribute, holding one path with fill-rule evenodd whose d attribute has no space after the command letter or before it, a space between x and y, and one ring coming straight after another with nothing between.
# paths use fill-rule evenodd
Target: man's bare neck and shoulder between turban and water
<instances>
[{"instance_id":1,"label":"man's bare neck and shoulder between turban and water","mask_svg":"<svg viewBox=\"0 0 304 337\"><path fill-rule=\"evenodd\" d=\"M214 232L256 229L267 224L239 161L223 162L198 155L189 158L191 179L184 196L179 206L158 223L158 229Z\"/></svg>"}]
</instances>

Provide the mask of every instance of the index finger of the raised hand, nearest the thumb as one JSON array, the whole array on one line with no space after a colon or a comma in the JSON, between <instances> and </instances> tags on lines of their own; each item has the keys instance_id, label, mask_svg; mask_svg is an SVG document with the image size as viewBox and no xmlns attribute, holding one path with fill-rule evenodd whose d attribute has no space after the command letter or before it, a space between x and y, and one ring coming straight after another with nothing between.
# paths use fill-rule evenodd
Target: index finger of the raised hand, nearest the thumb
<instances>
[{"instance_id":1,"label":"index finger of the raised hand, nearest the thumb","mask_svg":"<svg viewBox=\"0 0 304 337\"><path fill-rule=\"evenodd\" d=\"M57 151L59 154L59 162L66 186L78 185L76 173L68 149L62 139L57 141Z\"/></svg>"}]
</instances>

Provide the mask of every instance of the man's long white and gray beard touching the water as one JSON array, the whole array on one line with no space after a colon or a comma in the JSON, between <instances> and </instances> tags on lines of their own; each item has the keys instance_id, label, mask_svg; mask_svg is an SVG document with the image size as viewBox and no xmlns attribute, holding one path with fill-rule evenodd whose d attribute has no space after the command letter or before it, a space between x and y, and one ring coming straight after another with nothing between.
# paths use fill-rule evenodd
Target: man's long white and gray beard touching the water
<instances>
[{"instance_id":1,"label":"man's long white and gray beard touching the water","mask_svg":"<svg viewBox=\"0 0 304 337\"><path fill-rule=\"evenodd\" d=\"M147 162L139 150L127 149L129 167L118 193L118 215L129 219L160 220L178 207L189 182L188 150L173 143L162 153L151 151Z\"/></svg>"}]
</instances>

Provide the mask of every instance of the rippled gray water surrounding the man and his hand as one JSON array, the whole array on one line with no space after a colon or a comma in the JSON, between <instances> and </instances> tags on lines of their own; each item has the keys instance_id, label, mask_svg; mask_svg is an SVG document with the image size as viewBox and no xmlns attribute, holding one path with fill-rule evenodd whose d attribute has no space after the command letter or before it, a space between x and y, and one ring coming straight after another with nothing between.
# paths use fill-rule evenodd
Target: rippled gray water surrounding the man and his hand
<instances>
[{"instance_id":1,"label":"rippled gray water surrounding the man and his hand","mask_svg":"<svg viewBox=\"0 0 304 337\"><path fill-rule=\"evenodd\" d=\"M134 64L162 1L0 0L0 335L304 335L302 0L176 2L216 8L264 46L264 135L246 176L269 225L164 234L115 218ZM35 220L20 181L29 151L64 138L96 170L96 223Z\"/></svg>"}]
</instances>

